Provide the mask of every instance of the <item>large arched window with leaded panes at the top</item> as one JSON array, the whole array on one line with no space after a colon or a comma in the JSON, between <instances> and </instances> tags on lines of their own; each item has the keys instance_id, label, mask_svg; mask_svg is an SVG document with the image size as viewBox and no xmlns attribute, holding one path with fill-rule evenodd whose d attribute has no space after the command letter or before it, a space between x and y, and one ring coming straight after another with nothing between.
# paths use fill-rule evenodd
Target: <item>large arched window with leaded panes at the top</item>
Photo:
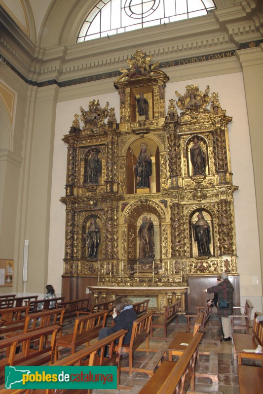
<instances>
[{"instance_id":1,"label":"large arched window with leaded panes at the top","mask_svg":"<svg viewBox=\"0 0 263 394\"><path fill-rule=\"evenodd\" d=\"M206 15L215 8L212 0L100 0L77 42Z\"/></svg>"}]
</instances>

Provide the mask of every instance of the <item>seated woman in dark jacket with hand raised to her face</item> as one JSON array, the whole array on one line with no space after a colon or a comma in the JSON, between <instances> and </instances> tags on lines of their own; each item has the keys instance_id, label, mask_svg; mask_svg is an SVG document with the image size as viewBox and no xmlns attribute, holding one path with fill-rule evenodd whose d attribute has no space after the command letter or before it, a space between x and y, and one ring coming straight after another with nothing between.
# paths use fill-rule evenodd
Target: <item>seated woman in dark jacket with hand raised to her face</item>
<instances>
[{"instance_id":1,"label":"seated woman in dark jacket with hand raised to her face","mask_svg":"<svg viewBox=\"0 0 263 394\"><path fill-rule=\"evenodd\" d=\"M113 321L114 327L101 328L99 332L99 340L106 338L107 336L114 334L114 332L120 329L127 329L128 332L124 336L124 344L127 345L131 340L131 332L134 320L138 318L133 306L128 298L118 297L113 303Z\"/></svg>"}]
</instances>

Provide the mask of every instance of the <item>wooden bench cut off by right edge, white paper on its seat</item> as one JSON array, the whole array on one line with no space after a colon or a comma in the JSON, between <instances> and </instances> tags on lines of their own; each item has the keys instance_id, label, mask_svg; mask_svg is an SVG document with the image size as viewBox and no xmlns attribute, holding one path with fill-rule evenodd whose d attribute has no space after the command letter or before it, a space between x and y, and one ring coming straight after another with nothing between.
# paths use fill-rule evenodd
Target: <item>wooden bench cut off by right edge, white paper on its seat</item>
<instances>
[{"instance_id":1,"label":"wooden bench cut off by right edge, white paper on its seat","mask_svg":"<svg viewBox=\"0 0 263 394\"><path fill-rule=\"evenodd\" d=\"M255 350L258 345L263 346L263 321L257 322L256 318L262 313L256 312L254 315L252 334L240 334L234 332L232 339L234 342L234 355L238 364L242 364L242 359L263 360L263 354L255 352L244 352L244 350Z\"/></svg>"}]
</instances>

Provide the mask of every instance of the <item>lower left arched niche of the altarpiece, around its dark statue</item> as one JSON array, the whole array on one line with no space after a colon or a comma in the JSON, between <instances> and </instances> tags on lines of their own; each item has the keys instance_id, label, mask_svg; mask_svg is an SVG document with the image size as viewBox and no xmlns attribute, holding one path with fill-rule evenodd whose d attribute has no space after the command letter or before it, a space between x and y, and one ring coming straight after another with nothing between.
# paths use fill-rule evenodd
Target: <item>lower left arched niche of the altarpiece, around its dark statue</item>
<instances>
[{"instance_id":1,"label":"lower left arched niche of the altarpiece, around its dark statue","mask_svg":"<svg viewBox=\"0 0 263 394\"><path fill-rule=\"evenodd\" d=\"M91 221L95 220L96 224L100 230L100 244L98 247L98 253L96 258L87 258L87 237L86 234L88 232L89 226L91 225ZM84 216L82 224L80 226L81 228L81 251L80 251L80 258L81 260L87 260L87 261L94 261L94 260L99 260L104 257L105 255L105 245L104 245L104 239L105 239L105 221L104 218L97 213L88 213L87 215Z\"/></svg>"}]
</instances>

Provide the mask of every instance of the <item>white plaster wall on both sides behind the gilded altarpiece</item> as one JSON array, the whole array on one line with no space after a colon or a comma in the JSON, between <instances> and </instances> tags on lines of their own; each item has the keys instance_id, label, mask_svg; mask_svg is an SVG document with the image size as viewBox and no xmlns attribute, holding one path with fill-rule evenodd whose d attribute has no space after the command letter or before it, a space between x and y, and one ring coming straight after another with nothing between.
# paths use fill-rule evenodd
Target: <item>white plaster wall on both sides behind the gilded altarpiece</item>
<instances>
[{"instance_id":1,"label":"white plaster wall on both sides behind the gilded altarpiece","mask_svg":"<svg viewBox=\"0 0 263 394\"><path fill-rule=\"evenodd\" d=\"M165 71L169 75L169 69ZM244 298L253 296L256 309L262 310L255 186L242 73L168 83L165 90L166 111L168 99L177 99L175 90L184 94L186 85L191 83L197 83L202 92L209 85L210 93L219 94L222 108L226 110L228 116L233 117L233 121L229 124L229 145L233 184L239 186L239 190L234 194L234 207L240 293ZM119 97L116 92L57 104L48 262L48 280L53 284L57 293L61 293L65 236L65 206L59 202L59 198L65 195L67 164L67 145L61 141L61 138L69 131L74 114L80 113L79 106L82 105L87 110L90 99L99 99L102 106L109 101L110 107L115 107L117 121L119 121Z\"/></svg>"}]
</instances>

